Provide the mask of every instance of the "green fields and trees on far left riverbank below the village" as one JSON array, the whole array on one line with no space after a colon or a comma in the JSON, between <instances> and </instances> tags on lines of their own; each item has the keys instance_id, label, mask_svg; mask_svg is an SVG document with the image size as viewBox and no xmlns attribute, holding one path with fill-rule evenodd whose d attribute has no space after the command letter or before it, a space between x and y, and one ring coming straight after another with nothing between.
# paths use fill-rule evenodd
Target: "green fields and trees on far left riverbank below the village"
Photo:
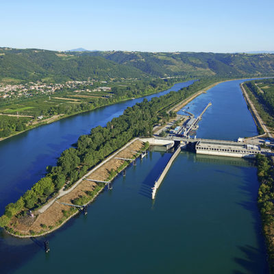
<instances>
[{"instance_id":1,"label":"green fields and trees on far left riverbank below the village","mask_svg":"<svg viewBox=\"0 0 274 274\"><path fill-rule=\"evenodd\" d=\"M0 138L5 138L47 123L49 119L57 119L95 110L96 108L118 103L132 97L142 97L173 86L182 78L144 79L139 81L112 82L106 84L111 88L108 92L88 92L86 88L97 88L100 83L92 86L78 86L84 89L75 93L73 88L61 88L51 97L47 94L32 94L32 97L0 99ZM50 98L50 99L49 99ZM8 116L8 115L14 116ZM16 117L16 114L18 116ZM23 117L27 116L27 117ZM37 117L39 117L37 119ZM42 117L42 119L41 119Z\"/></svg>"}]
</instances>

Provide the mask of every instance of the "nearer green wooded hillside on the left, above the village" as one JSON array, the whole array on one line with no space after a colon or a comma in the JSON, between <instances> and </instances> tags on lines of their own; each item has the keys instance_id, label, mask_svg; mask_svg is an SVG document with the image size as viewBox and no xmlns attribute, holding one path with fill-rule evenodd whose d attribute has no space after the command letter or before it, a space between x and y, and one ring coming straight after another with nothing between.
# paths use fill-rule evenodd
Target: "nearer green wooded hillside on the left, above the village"
<instances>
[{"instance_id":1,"label":"nearer green wooded hillside on the left, above the village","mask_svg":"<svg viewBox=\"0 0 274 274\"><path fill-rule=\"evenodd\" d=\"M132 67L106 60L101 56L71 55L40 49L0 49L0 80L9 78L50 82L69 79L106 79L144 77Z\"/></svg>"}]
</instances>

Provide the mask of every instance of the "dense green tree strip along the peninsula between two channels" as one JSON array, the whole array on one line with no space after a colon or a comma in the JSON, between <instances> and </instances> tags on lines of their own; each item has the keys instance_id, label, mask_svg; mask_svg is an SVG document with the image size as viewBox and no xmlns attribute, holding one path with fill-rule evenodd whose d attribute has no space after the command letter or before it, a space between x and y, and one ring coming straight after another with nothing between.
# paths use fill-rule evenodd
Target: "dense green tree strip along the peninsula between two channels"
<instances>
[{"instance_id":1,"label":"dense green tree strip along the peninsula between two channels","mask_svg":"<svg viewBox=\"0 0 274 274\"><path fill-rule=\"evenodd\" d=\"M56 166L47 167L47 175L16 201L5 208L0 218L0 226L8 225L12 216L25 214L26 210L38 208L66 184L73 185L88 169L92 168L116 149L134 137L151 136L153 125L158 123L166 110L175 103L189 97L197 90L209 86L216 79L204 79L195 82L178 92L169 92L151 101L144 99L132 108L127 108L123 115L112 119L105 127L95 127L90 134L80 136L77 147L66 149L58 158Z\"/></svg>"}]
</instances>

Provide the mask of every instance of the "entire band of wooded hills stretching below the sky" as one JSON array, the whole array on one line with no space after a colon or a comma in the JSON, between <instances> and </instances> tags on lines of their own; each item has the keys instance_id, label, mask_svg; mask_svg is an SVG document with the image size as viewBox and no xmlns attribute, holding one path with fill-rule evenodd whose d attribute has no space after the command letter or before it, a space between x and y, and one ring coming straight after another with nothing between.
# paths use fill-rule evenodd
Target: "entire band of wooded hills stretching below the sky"
<instances>
[{"instance_id":1,"label":"entire band of wooded hills stretching below the sky","mask_svg":"<svg viewBox=\"0 0 274 274\"><path fill-rule=\"evenodd\" d=\"M273 54L59 52L0 48L0 80L64 82L168 76L247 77L274 75Z\"/></svg>"}]
</instances>

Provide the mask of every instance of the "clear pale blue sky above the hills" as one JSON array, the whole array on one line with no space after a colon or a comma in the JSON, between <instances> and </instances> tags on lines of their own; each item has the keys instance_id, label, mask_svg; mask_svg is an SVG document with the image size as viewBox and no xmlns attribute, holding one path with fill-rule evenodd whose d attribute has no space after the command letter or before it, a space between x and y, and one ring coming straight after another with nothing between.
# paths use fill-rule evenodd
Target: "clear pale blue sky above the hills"
<instances>
[{"instance_id":1,"label":"clear pale blue sky above the hills","mask_svg":"<svg viewBox=\"0 0 274 274\"><path fill-rule=\"evenodd\" d=\"M0 47L274 50L274 0L10 0L0 11Z\"/></svg>"}]
</instances>

